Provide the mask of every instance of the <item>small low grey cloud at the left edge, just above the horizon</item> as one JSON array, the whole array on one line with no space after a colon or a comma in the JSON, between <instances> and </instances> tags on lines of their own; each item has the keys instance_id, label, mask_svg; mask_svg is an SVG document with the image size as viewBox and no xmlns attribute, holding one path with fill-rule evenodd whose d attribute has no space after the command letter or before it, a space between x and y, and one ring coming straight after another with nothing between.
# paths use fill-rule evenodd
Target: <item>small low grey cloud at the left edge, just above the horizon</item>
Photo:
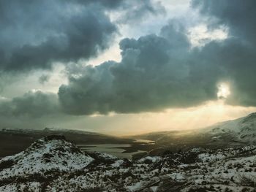
<instances>
[{"instance_id":1,"label":"small low grey cloud at the left edge, just above the horizon","mask_svg":"<svg viewBox=\"0 0 256 192\"><path fill-rule=\"evenodd\" d=\"M1 117L39 118L56 113L59 113L59 101L53 93L28 92L11 100L0 100Z\"/></svg>"}]
</instances>

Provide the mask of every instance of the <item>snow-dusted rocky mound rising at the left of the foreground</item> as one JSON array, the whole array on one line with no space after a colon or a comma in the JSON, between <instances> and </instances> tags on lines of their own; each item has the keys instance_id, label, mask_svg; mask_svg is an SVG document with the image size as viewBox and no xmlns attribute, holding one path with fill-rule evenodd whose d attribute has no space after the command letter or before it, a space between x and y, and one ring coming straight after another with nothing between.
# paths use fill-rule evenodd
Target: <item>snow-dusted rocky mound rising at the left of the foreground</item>
<instances>
[{"instance_id":1,"label":"snow-dusted rocky mound rising at the left of the foreground","mask_svg":"<svg viewBox=\"0 0 256 192\"><path fill-rule=\"evenodd\" d=\"M38 139L21 153L0 160L0 178L30 177L49 172L83 169L94 159L81 152L63 136ZM55 170L55 171L54 171Z\"/></svg>"}]
</instances>

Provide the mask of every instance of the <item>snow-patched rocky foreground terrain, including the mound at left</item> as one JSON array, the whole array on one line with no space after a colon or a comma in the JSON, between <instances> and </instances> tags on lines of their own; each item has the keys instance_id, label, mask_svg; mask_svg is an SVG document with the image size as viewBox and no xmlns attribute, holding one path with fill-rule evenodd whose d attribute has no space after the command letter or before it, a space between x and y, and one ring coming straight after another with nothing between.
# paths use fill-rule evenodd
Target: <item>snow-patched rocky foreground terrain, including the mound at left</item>
<instances>
[{"instance_id":1,"label":"snow-patched rocky foreground terrain, including the mound at left","mask_svg":"<svg viewBox=\"0 0 256 192\"><path fill-rule=\"evenodd\" d=\"M137 161L83 153L61 136L0 160L0 191L255 191L256 146L165 151Z\"/></svg>"}]
</instances>

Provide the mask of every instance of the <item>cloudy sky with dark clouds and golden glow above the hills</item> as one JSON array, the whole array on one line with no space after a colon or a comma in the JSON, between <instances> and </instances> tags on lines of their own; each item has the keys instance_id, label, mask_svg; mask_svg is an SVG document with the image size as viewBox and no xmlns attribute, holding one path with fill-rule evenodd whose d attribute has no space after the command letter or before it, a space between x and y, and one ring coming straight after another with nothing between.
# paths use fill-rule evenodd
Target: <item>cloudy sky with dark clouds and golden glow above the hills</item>
<instances>
[{"instance_id":1,"label":"cloudy sky with dark clouds and golden glow above the hills","mask_svg":"<svg viewBox=\"0 0 256 192\"><path fill-rule=\"evenodd\" d=\"M0 0L0 128L129 135L255 112L255 5Z\"/></svg>"}]
</instances>

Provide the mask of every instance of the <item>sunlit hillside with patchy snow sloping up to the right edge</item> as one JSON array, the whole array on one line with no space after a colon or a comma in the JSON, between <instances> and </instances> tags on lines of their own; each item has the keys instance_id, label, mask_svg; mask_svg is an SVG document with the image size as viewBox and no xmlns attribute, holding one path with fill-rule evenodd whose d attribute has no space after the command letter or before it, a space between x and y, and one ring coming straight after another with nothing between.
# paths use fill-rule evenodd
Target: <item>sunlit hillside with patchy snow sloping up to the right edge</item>
<instances>
[{"instance_id":1,"label":"sunlit hillside with patchy snow sloping up to the right edge","mask_svg":"<svg viewBox=\"0 0 256 192\"><path fill-rule=\"evenodd\" d=\"M236 120L216 123L206 128L161 131L132 136L151 139L160 145L249 145L256 144L256 112Z\"/></svg>"}]
</instances>

